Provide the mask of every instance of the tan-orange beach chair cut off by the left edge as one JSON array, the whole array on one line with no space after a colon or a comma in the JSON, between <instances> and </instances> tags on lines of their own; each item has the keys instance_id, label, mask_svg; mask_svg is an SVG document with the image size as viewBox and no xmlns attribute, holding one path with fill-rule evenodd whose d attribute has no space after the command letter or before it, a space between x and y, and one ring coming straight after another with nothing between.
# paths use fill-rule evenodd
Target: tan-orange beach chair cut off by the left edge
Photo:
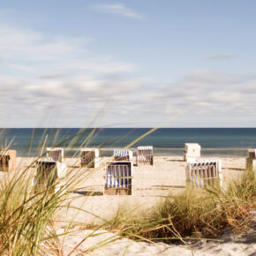
<instances>
[{"instance_id":1,"label":"tan-orange beach chair cut off by the left edge","mask_svg":"<svg viewBox=\"0 0 256 256\"><path fill-rule=\"evenodd\" d=\"M0 171L14 170L16 167L16 150L0 150Z\"/></svg>"}]
</instances>

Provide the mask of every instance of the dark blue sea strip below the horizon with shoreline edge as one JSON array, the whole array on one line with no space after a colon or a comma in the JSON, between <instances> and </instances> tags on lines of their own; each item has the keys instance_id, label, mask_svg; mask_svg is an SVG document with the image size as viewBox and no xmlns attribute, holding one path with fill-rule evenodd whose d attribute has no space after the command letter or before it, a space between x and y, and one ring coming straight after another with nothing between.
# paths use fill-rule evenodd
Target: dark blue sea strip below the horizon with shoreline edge
<instances>
[{"instance_id":1,"label":"dark blue sea strip below the horizon with shoreline edge","mask_svg":"<svg viewBox=\"0 0 256 256\"><path fill-rule=\"evenodd\" d=\"M11 143L19 156L40 154L45 147L64 147L72 156L79 147L101 147L101 155L111 155L114 148L126 147L150 128L22 128L0 129L0 146ZM184 143L199 143L204 156L245 156L256 148L256 128L162 128L140 139L138 146L154 146L154 155L183 155ZM45 148L44 147L44 148Z\"/></svg>"}]
</instances>

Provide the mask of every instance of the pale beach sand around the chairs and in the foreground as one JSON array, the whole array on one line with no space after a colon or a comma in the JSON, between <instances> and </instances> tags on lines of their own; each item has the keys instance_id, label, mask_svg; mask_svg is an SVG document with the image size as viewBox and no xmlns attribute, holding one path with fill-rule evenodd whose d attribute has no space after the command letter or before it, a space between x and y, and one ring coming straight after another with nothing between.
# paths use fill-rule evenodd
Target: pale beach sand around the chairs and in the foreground
<instances>
[{"instance_id":1,"label":"pale beach sand around the chairs and in the foreground","mask_svg":"<svg viewBox=\"0 0 256 256\"><path fill-rule=\"evenodd\" d=\"M115 215L118 207L134 209L134 211L152 210L158 202L164 200L164 196L169 193L180 192L186 185L185 166L187 163L183 162L183 157L156 156L154 157L153 166L139 165L133 167L132 186L134 193L132 196L103 195L105 163L110 160L110 158L101 158L99 168L83 169L85 177L79 184L79 189L71 193L70 196L71 206L79 207L83 211L70 208L68 212L66 210L59 212L57 220L60 222L56 225L57 233L64 232L64 222L72 221L74 230L78 230L80 226L101 224L101 218L103 220L110 219ZM228 184L230 180L237 179L243 174L245 158L234 157L222 158L221 160L223 184ZM33 161L33 158L18 158L18 165L21 169L24 169ZM77 166L79 160L64 159L64 163L67 166ZM33 172L35 169L31 171ZM6 174L1 173L0 175L4 176ZM87 196L90 192L94 192L94 195ZM80 230L61 238L64 255L68 255L72 248L79 245L83 240L85 241L78 246L72 255L82 255L87 252L88 248L104 241L106 238L116 237L115 234L101 230L98 232L102 234L85 239L91 232L92 230ZM255 236L255 230L252 230L252 232L254 232L253 236ZM164 243L153 245L122 238L89 254L123 255L126 252L125 255L192 255L193 251L195 255L256 255L253 254L256 252L253 236L250 243L237 238L236 240L232 236L229 233L228 238L224 238L222 243L200 241L193 244L192 247L187 245L166 245Z\"/></svg>"}]
</instances>

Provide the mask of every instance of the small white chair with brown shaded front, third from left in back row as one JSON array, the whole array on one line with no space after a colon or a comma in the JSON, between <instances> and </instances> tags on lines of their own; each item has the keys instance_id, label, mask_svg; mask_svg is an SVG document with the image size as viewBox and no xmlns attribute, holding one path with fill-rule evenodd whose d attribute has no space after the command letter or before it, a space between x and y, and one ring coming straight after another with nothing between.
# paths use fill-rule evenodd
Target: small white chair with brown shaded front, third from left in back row
<instances>
[{"instance_id":1,"label":"small white chair with brown shaded front, third from left in back row","mask_svg":"<svg viewBox=\"0 0 256 256\"><path fill-rule=\"evenodd\" d=\"M88 168L97 168L99 166L100 151L98 148L81 148L80 149L80 164Z\"/></svg>"}]
</instances>

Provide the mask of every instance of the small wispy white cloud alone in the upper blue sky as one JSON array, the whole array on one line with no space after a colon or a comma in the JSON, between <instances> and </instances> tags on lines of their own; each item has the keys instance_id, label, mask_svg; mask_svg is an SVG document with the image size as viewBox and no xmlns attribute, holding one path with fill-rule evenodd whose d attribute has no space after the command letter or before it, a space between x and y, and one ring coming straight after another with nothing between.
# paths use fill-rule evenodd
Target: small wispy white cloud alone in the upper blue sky
<instances>
[{"instance_id":1,"label":"small wispy white cloud alone in the upper blue sky","mask_svg":"<svg viewBox=\"0 0 256 256\"><path fill-rule=\"evenodd\" d=\"M94 4L95 10L109 14L117 14L131 19L142 19L142 16L132 9L124 6L124 4Z\"/></svg>"}]
</instances>

